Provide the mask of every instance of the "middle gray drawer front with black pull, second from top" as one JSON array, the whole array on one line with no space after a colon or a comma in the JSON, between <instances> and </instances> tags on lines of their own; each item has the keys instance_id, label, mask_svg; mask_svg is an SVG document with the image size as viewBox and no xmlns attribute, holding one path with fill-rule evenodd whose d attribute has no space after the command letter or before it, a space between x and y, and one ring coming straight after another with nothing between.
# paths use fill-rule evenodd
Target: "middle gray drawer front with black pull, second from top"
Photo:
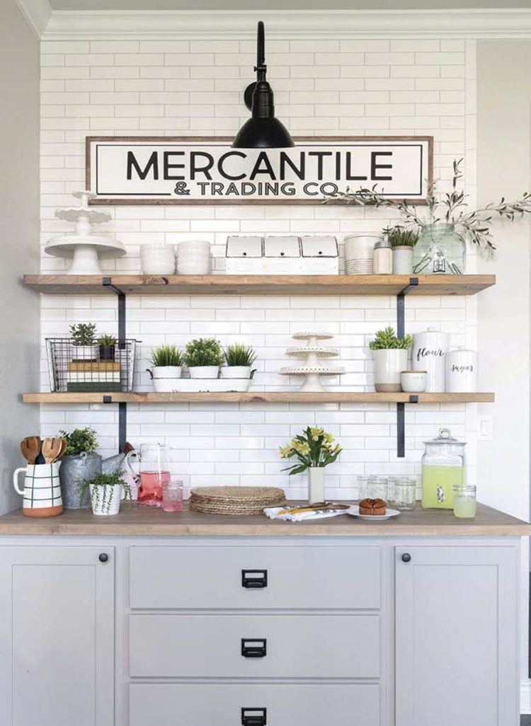
<instances>
[{"instance_id":1,"label":"middle gray drawer front with black pull, second from top","mask_svg":"<svg viewBox=\"0 0 531 726\"><path fill-rule=\"evenodd\" d=\"M129 618L131 677L376 678L379 651L376 615Z\"/></svg>"}]
</instances>

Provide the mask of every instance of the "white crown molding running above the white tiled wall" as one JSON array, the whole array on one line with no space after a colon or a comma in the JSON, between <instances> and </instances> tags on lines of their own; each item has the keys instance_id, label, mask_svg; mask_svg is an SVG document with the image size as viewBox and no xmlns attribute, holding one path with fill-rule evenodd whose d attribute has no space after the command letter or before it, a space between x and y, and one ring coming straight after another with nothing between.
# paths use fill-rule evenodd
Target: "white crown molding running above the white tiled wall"
<instances>
[{"instance_id":1,"label":"white crown molding running above the white tiled wall","mask_svg":"<svg viewBox=\"0 0 531 726\"><path fill-rule=\"evenodd\" d=\"M17 0L43 40L119 38L531 38L531 9L59 11Z\"/></svg>"}]
</instances>

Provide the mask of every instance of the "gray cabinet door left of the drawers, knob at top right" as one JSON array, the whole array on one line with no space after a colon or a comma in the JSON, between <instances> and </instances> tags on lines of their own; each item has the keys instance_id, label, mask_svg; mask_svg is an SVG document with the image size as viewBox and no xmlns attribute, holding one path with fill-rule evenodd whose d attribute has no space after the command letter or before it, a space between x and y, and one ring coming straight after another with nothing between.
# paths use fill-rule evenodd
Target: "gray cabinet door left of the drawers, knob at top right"
<instances>
[{"instance_id":1,"label":"gray cabinet door left of the drawers, knob at top right","mask_svg":"<svg viewBox=\"0 0 531 726\"><path fill-rule=\"evenodd\" d=\"M1 726L114 722L114 556L0 547Z\"/></svg>"}]
</instances>

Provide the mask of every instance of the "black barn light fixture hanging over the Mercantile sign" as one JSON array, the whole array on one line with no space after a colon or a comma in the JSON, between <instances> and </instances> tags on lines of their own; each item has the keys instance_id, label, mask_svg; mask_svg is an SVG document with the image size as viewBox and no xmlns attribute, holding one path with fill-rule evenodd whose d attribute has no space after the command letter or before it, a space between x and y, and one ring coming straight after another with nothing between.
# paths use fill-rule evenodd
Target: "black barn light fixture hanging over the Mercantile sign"
<instances>
[{"instance_id":1,"label":"black barn light fixture hanging over the Mercantile sign","mask_svg":"<svg viewBox=\"0 0 531 726\"><path fill-rule=\"evenodd\" d=\"M256 83L247 86L243 96L251 118L243 124L232 147L235 149L277 149L295 146L288 129L275 118L273 91L266 80L264 23L258 23L256 41Z\"/></svg>"}]
</instances>

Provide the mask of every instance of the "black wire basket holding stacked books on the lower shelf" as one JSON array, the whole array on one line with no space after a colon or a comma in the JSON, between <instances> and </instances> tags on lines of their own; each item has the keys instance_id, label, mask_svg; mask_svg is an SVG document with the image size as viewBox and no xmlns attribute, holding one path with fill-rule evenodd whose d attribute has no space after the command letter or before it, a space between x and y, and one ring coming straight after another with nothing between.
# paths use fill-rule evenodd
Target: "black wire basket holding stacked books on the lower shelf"
<instances>
[{"instance_id":1,"label":"black wire basket holding stacked books on the lower shelf","mask_svg":"<svg viewBox=\"0 0 531 726\"><path fill-rule=\"evenodd\" d=\"M136 340L120 346L75 346L71 338L46 338L50 388L60 393L133 390Z\"/></svg>"}]
</instances>

